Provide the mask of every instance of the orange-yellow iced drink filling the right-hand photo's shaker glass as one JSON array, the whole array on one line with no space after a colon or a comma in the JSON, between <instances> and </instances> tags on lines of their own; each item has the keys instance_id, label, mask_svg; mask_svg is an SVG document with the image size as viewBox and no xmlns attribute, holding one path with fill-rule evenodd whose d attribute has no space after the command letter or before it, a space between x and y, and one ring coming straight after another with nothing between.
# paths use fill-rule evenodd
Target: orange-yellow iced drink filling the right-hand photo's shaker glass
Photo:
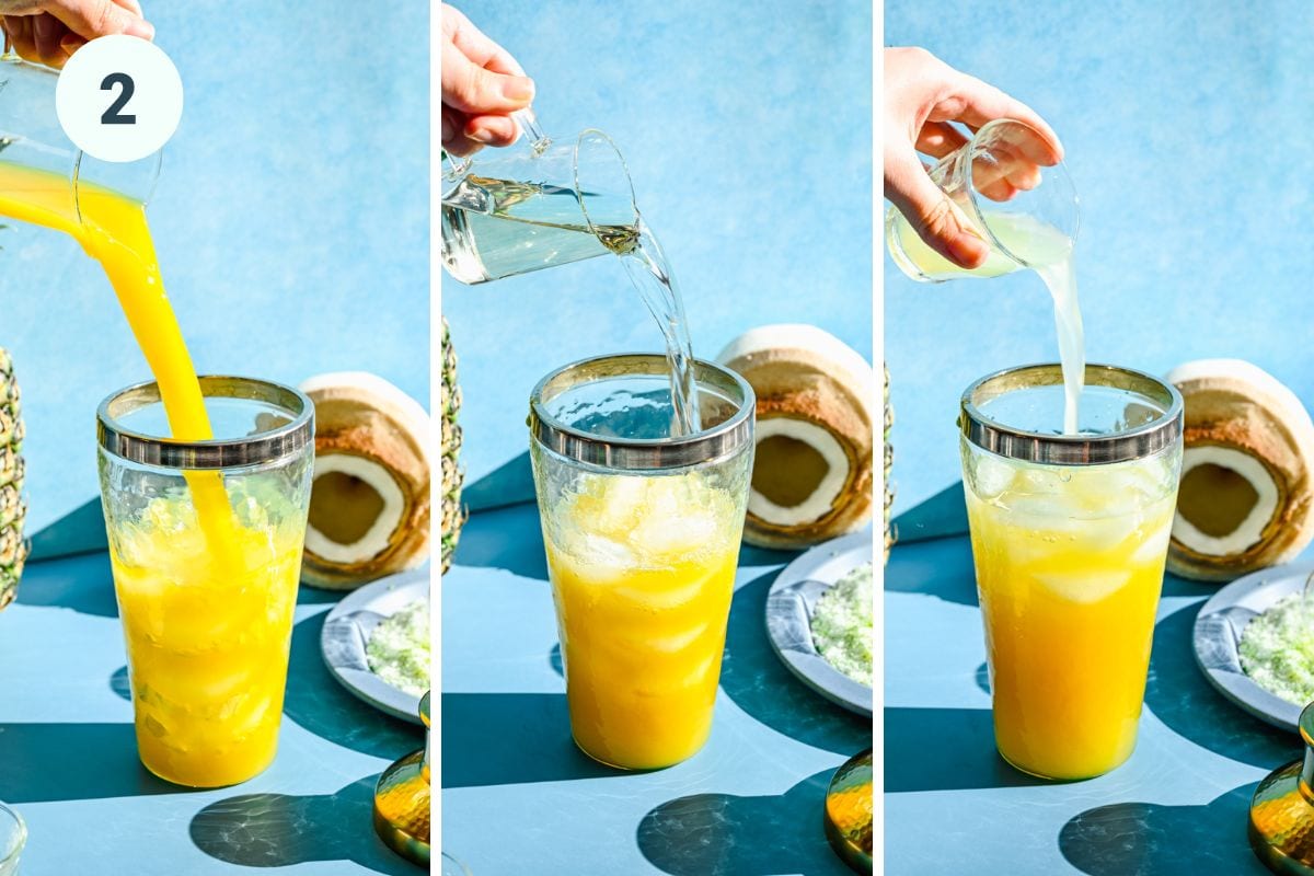
<instances>
[{"instance_id":1,"label":"orange-yellow iced drink filling the right-hand photo's shaker glass","mask_svg":"<svg viewBox=\"0 0 1314 876\"><path fill-rule=\"evenodd\" d=\"M1135 746L1180 454L964 454L999 751L1051 779L1108 772Z\"/></svg>"}]
</instances>

